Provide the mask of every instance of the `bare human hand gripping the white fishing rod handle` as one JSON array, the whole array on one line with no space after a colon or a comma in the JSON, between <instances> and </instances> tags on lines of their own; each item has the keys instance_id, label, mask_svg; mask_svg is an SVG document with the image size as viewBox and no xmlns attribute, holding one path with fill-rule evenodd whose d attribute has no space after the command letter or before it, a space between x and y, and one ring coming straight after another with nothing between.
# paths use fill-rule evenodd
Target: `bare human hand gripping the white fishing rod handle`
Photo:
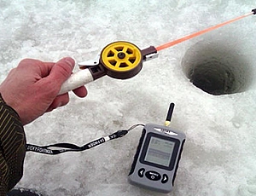
<instances>
[{"instance_id":1,"label":"bare human hand gripping the white fishing rod handle","mask_svg":"<svg viewBox=\"0 0 256 196\"><path fill-rule=\"evenodd\" d=\"M61 84L70 77L74 64L69 57L56 63L32 59L20 61L0 85L3 100L19 114L22 124L31 123L44 112L68 103L68 94L58 93ZM79 97L87 95L84 86L73 92Z\"/></svg>"}]
</instances>

